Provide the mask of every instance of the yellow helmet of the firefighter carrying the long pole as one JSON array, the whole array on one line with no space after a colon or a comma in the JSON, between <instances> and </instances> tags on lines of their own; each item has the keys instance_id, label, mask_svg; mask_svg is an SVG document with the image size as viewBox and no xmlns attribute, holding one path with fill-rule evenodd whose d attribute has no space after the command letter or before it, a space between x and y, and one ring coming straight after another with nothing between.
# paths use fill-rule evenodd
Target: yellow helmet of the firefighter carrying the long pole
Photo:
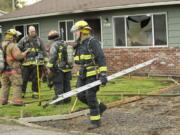
<instances>
[{"instance_id":1,"label":"yellow helmet of the firefighter carrying the long pole","mask_svg":"<svg viewBox=\"0 0 180 135\"><path fill-rule=\"evenodd\" d=\"M76 22L71 28L71 32L75 32L77 30L79 30L80 32L84 34L88 34L91 31L91 27L86 21L81 20L81 21Z\"/></svg>"}]
</instances>

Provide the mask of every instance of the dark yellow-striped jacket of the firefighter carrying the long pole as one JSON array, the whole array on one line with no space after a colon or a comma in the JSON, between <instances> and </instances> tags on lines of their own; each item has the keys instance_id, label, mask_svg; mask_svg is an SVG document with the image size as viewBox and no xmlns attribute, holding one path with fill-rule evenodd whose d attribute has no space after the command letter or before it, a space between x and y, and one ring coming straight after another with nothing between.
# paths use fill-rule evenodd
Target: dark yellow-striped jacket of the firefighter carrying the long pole
<instances>
[{"instance_id":1,"label":"dark yellow-striped jacket of the firefighter carrying the long pole","mask_svg":"<svg viewBox=\"0 0 180 135\"><path fill-rule=\"evenodd\" d=\"M101 44L89 37L75 48L74 61L86 69L86 77L107 72L105 56ZM77 73L79 75L79 72Z\"/></svg>"}]
</instances>

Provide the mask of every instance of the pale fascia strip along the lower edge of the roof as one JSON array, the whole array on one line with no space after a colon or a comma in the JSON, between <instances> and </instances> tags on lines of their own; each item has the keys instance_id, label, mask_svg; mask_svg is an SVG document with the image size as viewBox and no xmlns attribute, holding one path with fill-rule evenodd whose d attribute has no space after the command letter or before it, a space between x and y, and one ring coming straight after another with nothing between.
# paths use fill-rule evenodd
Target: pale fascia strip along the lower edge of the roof
<instances>
[{"instance_id":1,"label":"pale fascia strip along the lower edge of the roof","mask_svg":"<svg viewBox=\"0 0 180 135\"><path fill-rule=\"evenodd\" d=\"M167 6L167 5L178 5L178 4L180 4L180 1L132 4L132 5L103 7L103 8L94 8L94 9L87 9L87 10L74 10L74 11L68 11L68 12L65 11L65 12L56 12L56 13L49 13L49 14L39 14L39 15L9 18L9 19L1 19L0 22L32 19L32 18L48 17L48 16L56 16L56 15L75 14L75 13L86 13L86 12L106 11L106 10L116 10L116 9L130 9L130 8L152 7L152 6Z\"/></svg>"}]
</instances>

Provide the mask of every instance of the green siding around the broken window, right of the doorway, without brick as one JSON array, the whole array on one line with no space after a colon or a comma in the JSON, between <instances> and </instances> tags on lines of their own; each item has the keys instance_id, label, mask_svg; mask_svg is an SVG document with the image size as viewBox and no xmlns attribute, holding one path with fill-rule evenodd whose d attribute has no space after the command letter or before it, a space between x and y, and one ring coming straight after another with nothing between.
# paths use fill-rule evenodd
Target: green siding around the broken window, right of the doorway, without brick
<instances>
[{"instance_id":1,"label":"green siding around the broken window, right of the doorway, without brick","mask_svg":"<svg viewBox=\"0 0 180 135\"><path fill-rule=\"evenodd\" d=\"M168 45L169 47L180 47L180 5L179 6L164 6L138 8L121 11L108 12L102 15L103 20L103 45L105 48L111 48L113 43L113 16L137 15L148 13L167 13L168 24ZM105 19L109 20L108 24L104 23Z\"/></svg>"}]
</instances>

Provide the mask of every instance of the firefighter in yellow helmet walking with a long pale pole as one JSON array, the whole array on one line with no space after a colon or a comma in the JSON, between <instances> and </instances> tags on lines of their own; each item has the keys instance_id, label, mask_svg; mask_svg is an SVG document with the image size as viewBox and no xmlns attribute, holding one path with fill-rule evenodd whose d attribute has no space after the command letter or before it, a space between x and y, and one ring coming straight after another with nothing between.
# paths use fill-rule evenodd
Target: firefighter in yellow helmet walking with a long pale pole
<instances>
[{"instance_id":1,"label":"firefighter in yellow helmet walking with a long pale pole","mask_svg":"<svg viewBox=\"0 0 180 135\"><path fill-rule=\"evenodd\" d=\"M74 33L77 45L75 46L75 63L80 65L77 87L94 82L98 79L102 85L107 83L107 67L101 44L90 35L91 27L86 21L76 22L71 31ZM78 99L90 108L91 126L89 130L101 125L101 114L106 110L106 105L97 100L96 93L99 86L81 92Z\"/></svg>"}]
</instances>

